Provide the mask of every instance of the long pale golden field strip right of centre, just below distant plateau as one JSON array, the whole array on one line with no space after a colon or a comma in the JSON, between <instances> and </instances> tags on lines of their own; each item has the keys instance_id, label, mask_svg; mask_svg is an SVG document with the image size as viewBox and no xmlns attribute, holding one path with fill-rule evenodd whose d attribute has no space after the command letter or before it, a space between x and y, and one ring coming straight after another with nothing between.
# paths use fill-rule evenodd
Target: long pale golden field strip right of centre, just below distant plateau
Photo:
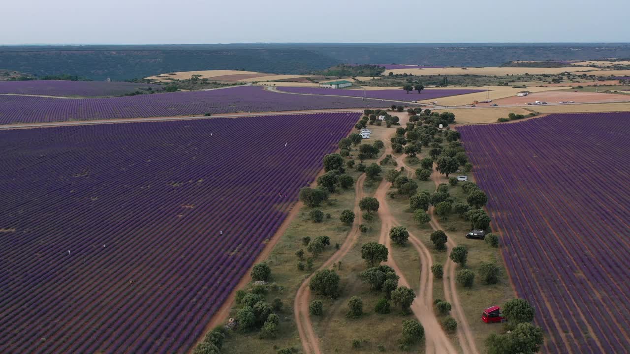
<instances>
[{"instance_id":1,"label":"long pale golden field strip right of centre, just below distant plateau","mask_svg":"<svg viewBox=\"0 0 630 354\"><path fill-rule=\"evenodd\" d=\"M413 74L413 75L522 75L526 72L529 74L559 74L560 72L576 72L576 71L592 71L592 67L444 67L432 69L393 69L386 70L383 75L387 76L389 72L394 74Z\"/></svg>"}]
</instances>

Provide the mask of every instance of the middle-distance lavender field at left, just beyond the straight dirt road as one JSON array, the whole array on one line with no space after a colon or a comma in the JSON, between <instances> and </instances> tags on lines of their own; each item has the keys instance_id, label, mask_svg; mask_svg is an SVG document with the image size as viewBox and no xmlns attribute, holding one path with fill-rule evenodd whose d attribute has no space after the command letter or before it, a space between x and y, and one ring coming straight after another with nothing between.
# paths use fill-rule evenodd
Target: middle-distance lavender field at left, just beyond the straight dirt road
<instances>
[{"instance_id":1,"label":"middle-distance lavender field at left, just beyond the straight dirt road","mask_svg":"<svg viewBox=\"0 0 630 354\"><path fill-rule=\"evenodd\" d=\"M175 117L247 111L385 108L392 104L395 103L350 97L275 93L260 86L113 98L67 99L0 95L0 124Z\"/></svg>"}]
</instances>

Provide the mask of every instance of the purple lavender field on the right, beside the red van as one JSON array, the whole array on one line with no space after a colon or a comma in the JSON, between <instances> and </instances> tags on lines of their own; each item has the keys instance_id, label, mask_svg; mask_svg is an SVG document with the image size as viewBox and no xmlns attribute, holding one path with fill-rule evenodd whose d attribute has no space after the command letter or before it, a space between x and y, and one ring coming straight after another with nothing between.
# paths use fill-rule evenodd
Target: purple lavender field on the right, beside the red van
<instances>
[{"instance_id":1,"label":"purple lavender field on the right, beside the red van","mask_svg":"<svg viewBox=\"0 0 630 354\"><path fill-rule=\"evenodd\" d=\"M630 112L459 127L546 353L630 348Z\"/></svg>"}]
</instances>

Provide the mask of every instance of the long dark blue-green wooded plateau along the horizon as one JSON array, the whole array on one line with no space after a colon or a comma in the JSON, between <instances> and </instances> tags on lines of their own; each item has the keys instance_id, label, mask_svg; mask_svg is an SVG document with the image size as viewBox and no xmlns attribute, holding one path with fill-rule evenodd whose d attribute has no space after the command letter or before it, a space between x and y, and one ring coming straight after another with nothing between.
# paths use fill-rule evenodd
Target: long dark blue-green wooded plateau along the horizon
<instances>
[{"instance_id":1,"label":"long dark blue-green wooded plateau along the horizon","mask_svg":"<svg viewBox=\"0 0 630 354\"><path fill-rule=\"evenodd\" d=\"M244 69L307 74L337 64L500 66L512 60L630 57L630 44L602 43L236 43L203 45L66 45L0 47L0 67L37 76L102 80L174 71Z\"/></svg>"}]
</instances>

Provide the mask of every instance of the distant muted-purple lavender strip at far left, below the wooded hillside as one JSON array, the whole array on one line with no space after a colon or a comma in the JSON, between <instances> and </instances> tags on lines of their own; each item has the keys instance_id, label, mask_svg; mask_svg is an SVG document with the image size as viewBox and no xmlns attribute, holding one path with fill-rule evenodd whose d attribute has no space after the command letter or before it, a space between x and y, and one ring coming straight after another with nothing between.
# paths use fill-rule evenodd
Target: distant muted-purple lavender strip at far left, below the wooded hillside
<instances>
[{"instance_id":1,"label":"distant muted-purple lavender strip at far left, below the wooded hillside","mask_svg":"<svg viewBox=\"0 0 630 354\"><path fill-rule=\"evenodd\" d=\"M151 90L149 90L151 88ZM107 97L122 96L135 91L161 91L163 86L156 84L124 83L120 81L69 81L69 80L28 80L0 81L0 94L43 94L45 96Z\"/></svg>"}]
</instances>

